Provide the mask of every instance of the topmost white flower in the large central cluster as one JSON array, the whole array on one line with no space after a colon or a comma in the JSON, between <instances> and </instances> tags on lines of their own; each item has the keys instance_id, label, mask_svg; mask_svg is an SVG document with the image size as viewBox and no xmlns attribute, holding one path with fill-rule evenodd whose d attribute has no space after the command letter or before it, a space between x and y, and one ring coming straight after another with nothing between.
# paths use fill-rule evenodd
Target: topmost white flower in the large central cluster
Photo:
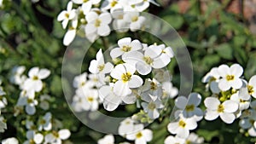
<instances>
[{"instance_id":1,"label":"topmost white flower in the large central cluster","mask_svg":"<svg viewBox=\"0 0 256 144\"><path fill-rule=\"evenodd\" d=\"M122 39L119 39L118 41L118 48L112 49L110 51L110 55L112 59L119 57L122 55L122 58L125 57L128 53L131 51L139 50L143 48L142 43L140 43L137 39L131 41L131 37L125 37Z\"/></svg>"}]
</instances>

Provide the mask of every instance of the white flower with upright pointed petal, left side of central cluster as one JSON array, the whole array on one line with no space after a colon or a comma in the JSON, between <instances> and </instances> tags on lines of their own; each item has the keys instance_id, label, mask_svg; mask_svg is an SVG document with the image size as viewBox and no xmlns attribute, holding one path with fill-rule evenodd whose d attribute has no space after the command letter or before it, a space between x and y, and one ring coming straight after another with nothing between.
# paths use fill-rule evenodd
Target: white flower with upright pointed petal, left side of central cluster
<instances>
[{"instance_id":1,"label":"white flower with upright pointed petal, left side of central cluster","mask_svg":"<svg viewBox=\"0 0 256 144\"><path fill-rule=\"evenodd\" d=\"M105 63L102 54L102 49L100 49L96 54L96 60L90 61L89 71L91 73L109 73L113 69L113 65L110 62Z\"/></svg>"}]
</instances>

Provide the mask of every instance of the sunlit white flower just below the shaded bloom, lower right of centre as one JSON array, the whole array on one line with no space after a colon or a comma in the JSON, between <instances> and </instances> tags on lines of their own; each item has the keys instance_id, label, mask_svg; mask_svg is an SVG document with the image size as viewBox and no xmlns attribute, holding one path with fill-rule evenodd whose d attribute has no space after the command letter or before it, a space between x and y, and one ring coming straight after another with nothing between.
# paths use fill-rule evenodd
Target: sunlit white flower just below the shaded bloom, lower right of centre
<instances>
[{"instance_id":1,"label":"sunlit white flower just below the shaded bloom, lower right of centre","mask_svg":"<svg viewBox=\"0 0 256 144\"><path fill-rule=\"evenodd\" d=\"M172 134L177 134L178 137L187 138L189 136L189 130L195 130L197 127L196 119L184 118L180 113L177 122L171 122L168 124L167 129Z\"/></svg>"}]
</instances>

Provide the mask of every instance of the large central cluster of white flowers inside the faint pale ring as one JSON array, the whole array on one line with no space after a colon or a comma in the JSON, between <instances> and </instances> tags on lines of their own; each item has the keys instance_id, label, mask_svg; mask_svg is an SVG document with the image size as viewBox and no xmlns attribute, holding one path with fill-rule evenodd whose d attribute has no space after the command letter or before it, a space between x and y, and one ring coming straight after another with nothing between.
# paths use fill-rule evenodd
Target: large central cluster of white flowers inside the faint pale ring
<instances>
[{"instance_id":1,"label":"large central cluster of white flowers inside the faint pale ring","mask_svg":"<svg viewBox=\"0 0 256 144\"><path fill-rule=\"evenodd\" d=\"M102 103L106 110L113 111L120 104L137 102L148 118L159 118L162 100L177 95L169 73L163 69L173 57L172 49L125 37L119 39L117 48L111 49L110 56L112 62L105 62L100 49L96 60L90 61L89 79L86 72L74 78L74 110L95 111ZM150 78L152 73L157 74ZM145 76L150 77L143 79Z\"/></svg>"}]
</instances>

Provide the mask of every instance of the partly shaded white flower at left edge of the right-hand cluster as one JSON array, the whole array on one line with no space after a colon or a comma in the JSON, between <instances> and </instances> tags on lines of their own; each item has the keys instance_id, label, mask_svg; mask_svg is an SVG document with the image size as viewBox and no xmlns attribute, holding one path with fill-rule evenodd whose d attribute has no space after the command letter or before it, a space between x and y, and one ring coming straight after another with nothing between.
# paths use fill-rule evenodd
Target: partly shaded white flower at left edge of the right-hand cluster
<instances>
[{"instance_id":1,"label":"partly shaded white flower at left edge of the right-hand cluster","mask_svg":"<svg viewBox=\"0 0 256 144\"><path fill-rule=\"evenodd\" d=\"M201 81L202 83L207 83L207 89L210 86L212 93L218 94L220 92L220 89L218 88L219 78L218 67L213 67Z\"/></svg>"}]
</instances>

